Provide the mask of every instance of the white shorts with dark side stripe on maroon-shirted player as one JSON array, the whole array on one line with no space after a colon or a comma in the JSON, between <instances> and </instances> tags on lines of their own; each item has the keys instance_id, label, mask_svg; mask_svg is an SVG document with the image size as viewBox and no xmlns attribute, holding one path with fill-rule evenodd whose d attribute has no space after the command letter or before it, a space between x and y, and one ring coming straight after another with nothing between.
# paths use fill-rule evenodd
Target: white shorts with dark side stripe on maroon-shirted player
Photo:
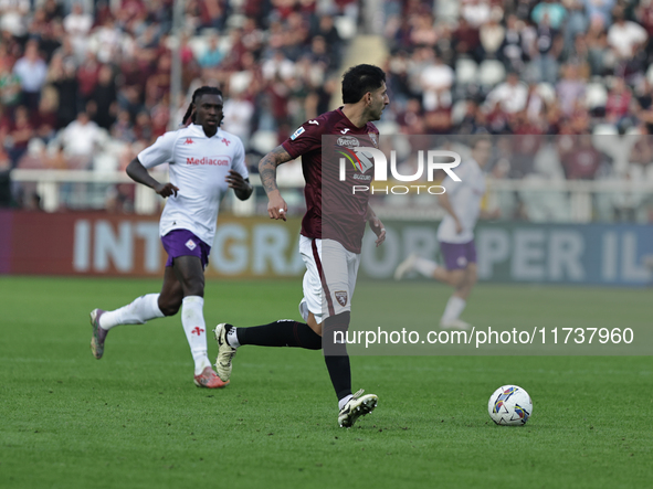
<instances>
[{"instance_id":1,"label":"white shorts with dark side stripe on maroon-shirted player","mask_svg":"<svg viewBox=\"0 0 653 489\"><path fill-rule=\"evenodd\" d=\"M337 241L306 236L299 236L299 253L306 265L303 301L317 323L351 310L360 255L345 249Z\"/></svg>"}]
</instances>

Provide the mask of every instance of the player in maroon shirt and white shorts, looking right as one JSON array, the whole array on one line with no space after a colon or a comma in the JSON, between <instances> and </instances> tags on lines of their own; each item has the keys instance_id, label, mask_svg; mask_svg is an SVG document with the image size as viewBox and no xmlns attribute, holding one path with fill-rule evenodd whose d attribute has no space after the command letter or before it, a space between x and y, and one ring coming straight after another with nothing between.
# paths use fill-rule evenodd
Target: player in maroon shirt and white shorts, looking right
<instances>
[{"instance_id":1,"label":"player in maroon shirt and white shorts, looking right","mask_svg":"<svg viewBox=\"0 0 653 489\"><path fill-rule=\"evenodd\" d=\"M299 253L306 274L299 311L306 323L280 320L252 328L222 323L214 332L219 347L215 369L224 382L231 376L231 361L241 346L320 350L324 344L325 362L338 396L338 423L350 427L376 407L378 397L364 395L362 390L351 393L347 346L336 342L336 338L337 333L346 338L349 328L366 223L377 235L377 246L386 240L386 230L368 204L369 190L352 192L354 185L371 187L373 164L366 159L366 164L347 163L341 170L336 153L352 147L378 147L379 131L371 121L381 118L390 102L383 71L368 64L349 68L343 77L343 107L304 123L259 163L270 200L267 213L271 219L285 221L287 205L276 185L276 167L302 157L306 214ZM323 136L330 136L325 138L327 158L323 158Z\"/></svg>"}]
</instances>

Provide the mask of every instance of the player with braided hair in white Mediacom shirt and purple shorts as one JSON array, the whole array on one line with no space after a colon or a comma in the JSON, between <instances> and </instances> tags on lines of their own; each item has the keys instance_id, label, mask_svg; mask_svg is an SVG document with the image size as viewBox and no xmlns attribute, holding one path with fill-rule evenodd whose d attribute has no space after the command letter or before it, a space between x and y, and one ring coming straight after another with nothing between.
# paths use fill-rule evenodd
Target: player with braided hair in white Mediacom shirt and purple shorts
<instances>
[{"instance_id":1,"label":"player with braided hair in white Mediacom shirt and purple shorts","mask_svg":"<svg viewBox=\"0 0 653 489\"><path fill-rule=\"evenodd\" d=\"M96 359L104 353L108 331L118 325L143 325L181 308L181 325L194 361L196 385L219 389L222 381L211 368L203 316L204 268L222 196L233 189L240 200L252 194L241 140L222 129L223 99L215 87L202 86L192 95L183 117L190 124L166 132L141 151L127 167L138 183L168 198L159 222L159 234L168 253L160 294L148 294L113 311L91 312L91 349ZM170 182L161 183L148 168L169 163Z\"/></svg>"}]
</instances>

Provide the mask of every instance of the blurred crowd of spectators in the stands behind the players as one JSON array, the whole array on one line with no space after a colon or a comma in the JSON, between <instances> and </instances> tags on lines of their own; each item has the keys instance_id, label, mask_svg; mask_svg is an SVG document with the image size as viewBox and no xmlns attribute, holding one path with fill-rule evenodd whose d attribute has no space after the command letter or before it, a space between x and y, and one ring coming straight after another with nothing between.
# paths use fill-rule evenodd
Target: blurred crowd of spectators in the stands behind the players
<instances>
[{"instance_id":1,"label":"blurred crowd of spectators in the stands behind the players","mask_svg":"<svg viewBox=\"0 0 653 489\"><path fill-rule=\"evenodd\" d=\"M388 52L381 132L653 130L651 0L188 0L179 40L172 7L0 0L0 170L124 169L203 84L223 89L223 127L254 162L333 107L346 47L366 32ZM183 95L170 100L176 46ZM630 171L590 167L561 168L589 180Z\"/></svg>"}]
</instances>

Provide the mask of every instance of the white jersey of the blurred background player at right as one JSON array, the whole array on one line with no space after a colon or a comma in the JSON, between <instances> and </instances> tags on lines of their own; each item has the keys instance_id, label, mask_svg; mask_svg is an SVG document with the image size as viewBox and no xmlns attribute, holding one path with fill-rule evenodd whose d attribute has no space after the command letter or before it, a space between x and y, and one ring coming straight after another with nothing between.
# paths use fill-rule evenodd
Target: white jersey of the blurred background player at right
<instances>
[{"instance_id":1,"label":"white jersey of the blurred background player at right","mask_svg":"<svg viewBox=\"0 0 653 489\"><path fill-rule=\"evenodd\" d=\"M474 240L474 226L481 213L481 200L485 193L485 174L473 159L464 160L455 172L461 179L460 182L453 181L447 176L441 185L446 189L451 208L461 221L463 232L456 234L455 221L451 214L446 213L438 227L438 241L468 243Z\"/></svg>"}]
</instances>

